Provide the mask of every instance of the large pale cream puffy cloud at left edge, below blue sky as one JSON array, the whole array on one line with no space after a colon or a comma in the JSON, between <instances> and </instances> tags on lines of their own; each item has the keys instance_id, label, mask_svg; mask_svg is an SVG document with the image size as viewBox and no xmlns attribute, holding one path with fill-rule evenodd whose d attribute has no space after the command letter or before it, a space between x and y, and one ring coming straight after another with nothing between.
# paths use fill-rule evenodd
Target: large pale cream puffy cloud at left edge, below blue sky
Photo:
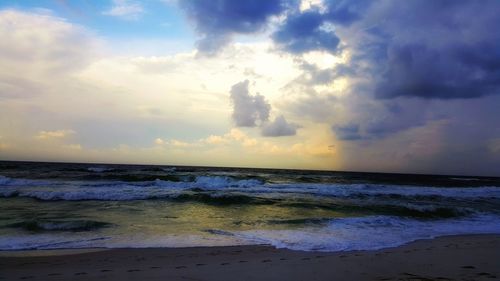
<instances>
[{"instance_id":1,"label":"large pale cream puffy cloud at left edge, below blue sky","mask_svg":"<svg viewBox=\"0 0 500 281\"><path fill-rule=\"evenodd\" d=\"M97 56L98 40L50 13L0 10L0 98L39 96ZM71 83L68 83L71 84Z\"/></svg>"}]
</instances>

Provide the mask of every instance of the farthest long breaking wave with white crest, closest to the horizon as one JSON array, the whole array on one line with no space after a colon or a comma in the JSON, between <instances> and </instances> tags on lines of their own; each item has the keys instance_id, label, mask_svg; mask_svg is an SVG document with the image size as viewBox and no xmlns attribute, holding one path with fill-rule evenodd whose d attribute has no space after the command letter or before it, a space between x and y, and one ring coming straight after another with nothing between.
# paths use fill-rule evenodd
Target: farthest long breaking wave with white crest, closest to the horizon
<instances>
[{"instance_id":1,"label":"farthest long breaking wave with white crest, closest to the horizon","mask_svg":"<svg viewBox=\"0 0 500 281\"><path fill-rule=\"evenodd\" d=\"M329 198L427 200L500 199L500 187L425 187L378 184L271 184L258 178L196 176L148 178L146 181L48 181L0 176L1 197L33 197L40 200L144 200L169 198L183 190L240 193L246 196L317 196Z\"/></svg>"}]
</instances>

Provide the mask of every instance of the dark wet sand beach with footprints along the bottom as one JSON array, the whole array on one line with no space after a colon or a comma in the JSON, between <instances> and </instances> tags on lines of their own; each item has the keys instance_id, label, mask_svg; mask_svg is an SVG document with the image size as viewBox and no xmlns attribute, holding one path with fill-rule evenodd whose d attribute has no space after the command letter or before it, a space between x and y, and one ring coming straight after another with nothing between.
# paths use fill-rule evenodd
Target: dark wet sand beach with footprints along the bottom
<instances>
[{"instance_id":1,"label":"dark wet sand beach with footprints along the bottom","mask_svg":"<svg viewBox=\"0 0 500 281\"><path fill-rule=\"evenodd\" d=\"M377 251L270 246L0 252L0 280L498 280L500 235Z\"/></svg>"}]
</instances>

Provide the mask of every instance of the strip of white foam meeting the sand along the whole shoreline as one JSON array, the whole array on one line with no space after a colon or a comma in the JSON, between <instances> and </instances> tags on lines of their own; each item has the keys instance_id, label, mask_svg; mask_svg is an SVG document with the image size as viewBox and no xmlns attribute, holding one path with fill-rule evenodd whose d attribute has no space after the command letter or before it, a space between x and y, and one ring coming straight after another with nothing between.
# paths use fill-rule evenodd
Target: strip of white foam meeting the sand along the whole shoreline
<instances>
[{"instance_id":1,"label":"strip of white foam meeting the sand along the whole shoreline","mask_svg":"<svg viewBox=\"0 0 500 281\"><path fill-rule=\"evenodd\" d=\"M393 216L368 216L335 219L322 227L238 232L214 230L206 235L19 234L0 236L0 250L269 244L293 250L349 251L376 250L418 239L461 234L500 234L500 217L484 215L453 220L419 221Z\"/></svg>"}]
</instances>

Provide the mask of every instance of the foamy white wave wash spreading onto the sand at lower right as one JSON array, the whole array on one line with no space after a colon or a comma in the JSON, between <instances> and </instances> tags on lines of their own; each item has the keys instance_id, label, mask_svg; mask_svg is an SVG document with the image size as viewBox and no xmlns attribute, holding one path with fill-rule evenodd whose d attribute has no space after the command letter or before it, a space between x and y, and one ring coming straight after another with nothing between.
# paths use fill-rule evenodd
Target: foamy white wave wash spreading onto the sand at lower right
<instances>
[{"instance_id":1,"label":"foamy white wave wash spreading onto the sand at lower right","mask_svg":"<svg viewBox=\"0 0 500 281\"><path fill-rule=\"evenodd\" d=\"M323 227L232 232L237 238L277 248L314 251L377 250L445 235L500 234L500 217L420 221L395 216L334 219Z\"/></svg>"}]
</instances>

